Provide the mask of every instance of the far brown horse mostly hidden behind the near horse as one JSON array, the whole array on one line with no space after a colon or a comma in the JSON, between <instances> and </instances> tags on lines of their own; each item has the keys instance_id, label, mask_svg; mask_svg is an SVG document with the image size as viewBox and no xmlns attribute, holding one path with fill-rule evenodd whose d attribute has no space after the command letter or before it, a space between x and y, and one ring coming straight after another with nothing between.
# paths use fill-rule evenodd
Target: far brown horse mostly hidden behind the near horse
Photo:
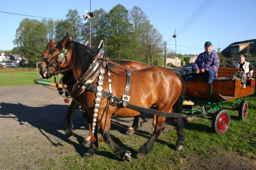
<instances>
[{"instance_id":1,"label":"far brown horse mostly hidden behind the near horse","mask_svg":"<svg viewBox=\"0 0 256 170\"><path fill-rule=\"evenodd\" d=\"M72 40L72 37L70 36L70 40ZM45 51L43 52L43 58L46 58L47 55L49 55L49 52L51 52L52 46L55 43L55 41L53 41L52 39L49 40L49 43L47 44ZM96 53L96 52L95 52ZM147 68L147 67L152 67L151 65L148 64L144 64L144 63L140 63L140 62L128 62L128 63L124 63L122 64L124 67L133 69L133 70L137 70L137 69L142 69L142 68ZM42 68L46 68L47 64L43 61L41 64L41 70L43 70ZM49 66L50 68L48 68L48 70L46 72L44 72L42 74L43 78L50 78L52 76L52 74L50 74L50 72L56 72L57 70L55 69L55 67L53 66ZM120 68L120 67L116 67L120 70L124 70L124 68ZM49 72L50 71L50 72ZM72 76L72 72L66 71L63 72L63 77L62 77L62 82L65 85L68 85L69 87L73 86L75 84L75 80ZM62 90L63 89L59 89L59 93L62 94ZM65 134L66 134L66 138L69 138L70 136L73 135L73 123L72 123L72 114L73 112L78 109L80 106L80 104L78 102L76 102L75 100L72 100L71 105L69 106L67 112L66 112L66 130L65 130ZM86 117L86 113L84 112L83 108L81 107L82 111L83 111L83 116L85 118ZM154 117L155 119L155 117ZM88 146L91 142L90 142L90 138L91 138L91 125L89 123L89 120L87 119L88 122L88 127L89 127L89 135L88 137L85 139L85 141L83 142L83 145ZM154 127L154 122L153 121L153 127ZM132 135L134 134L135 130L137 130L138 128L138 123L139 123L139 115L134 117L133 123L132 123L132 127L129 127L126 134L128 135Z\"/></svg>"}]
</instances>

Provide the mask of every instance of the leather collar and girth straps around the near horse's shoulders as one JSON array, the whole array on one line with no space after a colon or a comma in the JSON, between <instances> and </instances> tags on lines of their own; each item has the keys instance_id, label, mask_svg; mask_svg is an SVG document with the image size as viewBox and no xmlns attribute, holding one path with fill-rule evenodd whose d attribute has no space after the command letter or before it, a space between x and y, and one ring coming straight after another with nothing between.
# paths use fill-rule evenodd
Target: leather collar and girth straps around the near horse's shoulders
<instances>
[{"instance_id":1,"label":"leather collar and girth straps around the near horse's shoulders","mask_svg":"<svg viewBox=\"0 0 256 170\"><path fill-rule=\"evenodd\" d=\"M109 98L111 106L118 106L117 110L115 111L115 113L117 113L117 111L119 110L119 108L121 106L120 104L122 103L122 105L124 107L126 107L129 102L129 99L130 99L129 91L130 91L131 75L132 75L131 70L129 68L126 68L126 67L120 65L120 64L110 61L109 59L106 58L106 48L103 44L103 41L101 41L98 48L100 50L98 51L96 57L94 57L93 64L91 64L91 66L84 73L84 75L77 80L77 82L73 86L70 94L71 94L71 97L72 96L78 97L81 93L83 93L86 89L88 89L88 87L90 87L88 90L93 91L95 93L98 93L98 91L101 92L102 90L97 90L98 88L96 88L96 86L92 85L92 82L95 80L95 78L97 76L99 76L98 85L101 86L103 84L103 81L102 81L103 75L105 74L104 68L107 68L107 70L108 70L107 75L108 75L108 82L109 82L109 93L104 91L103 99ZM110 67L108 62L111 64L114 64L114 65L117 65L121 68L124 68L126 70L125 74L127 75L127 78L126 78L126 85L125 85L125 90L124 90L124 95L122 97L122 100L120 100L120 99L117 100L117 98L112 93L110 71L119 76L123 76L125 74L119 74L118 72L116 72L118 70L113 67ZM134 71L136 71L136 70L134 70ZM90 86L90 85L92 85L94 88L92 88L92 86ZM115 100L114 100L114 98L115 98ZM101 100L103 100L103 99L101 99Z\"/></svg>"}]
</instances>

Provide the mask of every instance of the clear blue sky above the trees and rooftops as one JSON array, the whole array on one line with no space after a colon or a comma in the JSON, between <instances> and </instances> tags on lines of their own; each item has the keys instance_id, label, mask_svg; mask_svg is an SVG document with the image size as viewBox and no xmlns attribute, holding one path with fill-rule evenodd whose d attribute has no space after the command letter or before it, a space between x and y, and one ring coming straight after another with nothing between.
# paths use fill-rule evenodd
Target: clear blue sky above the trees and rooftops
<instances>
[{"instance_id":1,"label":"clear blue sky above the trees and rooftops","mask_svg":"<svg viewBox=\"0 0 256 170\"><path fill-rule=\"evenodd\" d=\"M140 7L163 35L168 51L177 54L199 54L206 41L222 51L231 43L256 39L256 0L3 0L0 51L15 47L16 30L24 18L66 19L69 9L83 17L86 10L109 12L117 4L128 10Z\"/></svg>"}]
</instances>

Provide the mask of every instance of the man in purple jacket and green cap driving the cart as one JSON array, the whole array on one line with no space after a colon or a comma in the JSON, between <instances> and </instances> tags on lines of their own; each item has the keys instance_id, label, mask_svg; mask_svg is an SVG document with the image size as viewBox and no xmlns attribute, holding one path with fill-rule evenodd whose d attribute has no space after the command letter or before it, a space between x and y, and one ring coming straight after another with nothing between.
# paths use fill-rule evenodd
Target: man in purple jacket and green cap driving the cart
<instances>
[{"instance_id":1,"label":"man in purple jacket and green cap driving the cart","mask_svg":"<svg viewBox=\"0 0 256 170\"><path fill-rule=\"evenodd\" d=\"M204 52L200 53L193 64L193 68L186 74L186 81L193 81L193 78L202 76L203 82L212 83L214 77L218 74L220 66L219 56L212 51L212 43L207 41L204 43Z\"/></svg>"}]
</instances>

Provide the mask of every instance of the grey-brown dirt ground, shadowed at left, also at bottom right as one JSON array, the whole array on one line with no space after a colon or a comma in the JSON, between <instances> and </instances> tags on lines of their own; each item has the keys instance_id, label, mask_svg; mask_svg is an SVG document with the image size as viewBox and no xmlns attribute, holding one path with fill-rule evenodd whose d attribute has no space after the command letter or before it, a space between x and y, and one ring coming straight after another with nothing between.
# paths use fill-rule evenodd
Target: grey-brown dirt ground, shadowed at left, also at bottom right
<instances>
[{"instance_id":1,"label":"grey-brown dirt ground, shadowed at left, also at bottom right","mask_svg":"<svg viewBox=\"0 0 256 170\"><path fill-rule=\"evenodd\" d=\"M40 96L40 98L39 98ZM56 91L41 85L0 87L0 169L44 169L38 161L51 154L65 157L68 154L83 153L79 144L87 136L87 125L81 110L76 110L72 120L74 137L70 142L64 139L65 113L70 103L65 103ZM150 117L141 117L143 128L150 128ZM123 133L132 124L132 118L115 118L113 127ZM112 125L111 125L112 126ZM167 126L172 128L172 126ZM225 160L225 166L220 162ZM221 155L206 158L194 156L193 162L184 160L184 169L230 169L253 170L256 162L237 153L223 151ZM56 164L62 162L56 162Z\"/></svg>"}]
</instances>

